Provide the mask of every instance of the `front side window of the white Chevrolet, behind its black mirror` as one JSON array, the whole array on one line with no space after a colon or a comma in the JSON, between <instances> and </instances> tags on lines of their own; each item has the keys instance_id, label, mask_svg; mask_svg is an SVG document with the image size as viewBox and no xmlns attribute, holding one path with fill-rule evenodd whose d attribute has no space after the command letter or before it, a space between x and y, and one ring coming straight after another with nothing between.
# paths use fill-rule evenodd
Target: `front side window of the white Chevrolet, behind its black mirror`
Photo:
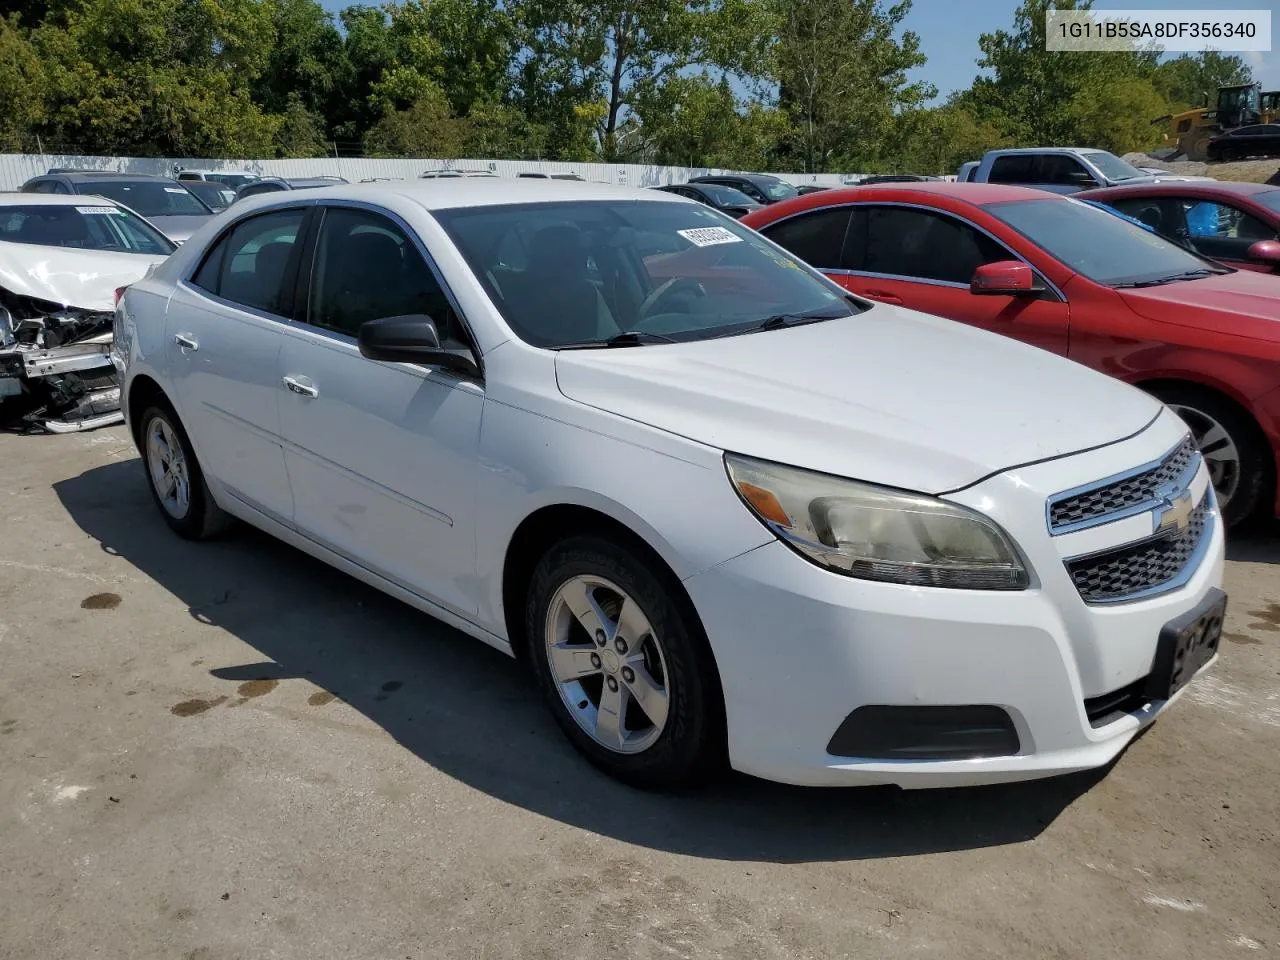
<instances>
[{"instance_id":1,"label":"front side window of the white Chevrolet, behind its black mirror","mask_svg":"<svg viewBox=\"0 0 1280 960\"><path fill-rule=\"evenodd\" d=\"M384 316L425 314L444 347L466 346L462 324L422 255L392 220L329 207L316 238L307 320L355 337Z\"/></svg>"}]
</instances>

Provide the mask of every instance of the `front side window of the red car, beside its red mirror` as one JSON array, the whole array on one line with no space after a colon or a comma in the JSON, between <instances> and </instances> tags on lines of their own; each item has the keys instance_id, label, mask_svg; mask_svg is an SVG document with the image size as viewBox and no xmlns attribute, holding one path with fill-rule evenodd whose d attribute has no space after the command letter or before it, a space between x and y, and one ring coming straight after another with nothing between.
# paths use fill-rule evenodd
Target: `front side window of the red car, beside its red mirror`
<instances>
[{"instance_id":1,"label":"front side window of the red car, beside its red mirror","mask_svg":"<svg viewBox=\"0 0 1280 960\"><path fill-rule=\"evenodd\" d=\"M963 283L983 264L1012 255L987 234L928 210L872 207L863 268L868 273Z\"/></svg>"}]
</instances>

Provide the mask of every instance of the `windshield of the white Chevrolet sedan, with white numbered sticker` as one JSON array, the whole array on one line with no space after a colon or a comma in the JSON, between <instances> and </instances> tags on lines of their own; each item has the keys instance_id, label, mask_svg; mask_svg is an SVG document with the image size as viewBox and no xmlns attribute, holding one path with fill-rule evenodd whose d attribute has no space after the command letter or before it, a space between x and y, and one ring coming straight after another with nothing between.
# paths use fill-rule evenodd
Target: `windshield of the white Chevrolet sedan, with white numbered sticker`
<instances>
[{"instance_id":1,"label":"windshield of the white Chevrolet sedan, with white numbered sticker","mask_svg":"<svg viewBox=\"0 0 1280 960\"><path fill-rule=\"evenodd\" d=\"M710 207L595 200L439 210L512 330L538 347L618 334L698 340L854 307L835 284Z\"/></svg>"}]
</instances>

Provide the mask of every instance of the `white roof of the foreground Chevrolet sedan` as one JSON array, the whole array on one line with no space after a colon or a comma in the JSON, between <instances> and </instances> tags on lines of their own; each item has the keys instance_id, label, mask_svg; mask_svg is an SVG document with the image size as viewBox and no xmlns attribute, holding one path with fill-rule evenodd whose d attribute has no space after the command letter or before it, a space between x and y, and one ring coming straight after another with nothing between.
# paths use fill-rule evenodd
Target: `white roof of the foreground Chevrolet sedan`
<instances>
[{"instance_id":1,"label":"white roof of the foreground Chevrolet sedan","mask_svg":"<svg viewBox=\"0 0 1280 960\"><path fill-rule=\"evenodd\" d=\"M568 200L648 200L655 204L691 204L694 201L663 191L641 187L614 187L608 183L579 180L529 180L516 178L417 178L385 183L338 183L307 191L311 200L366 200L378 202L388 195L410 200L425 210L454 210L472 206L507 204L554 204ZM255 196L246 202L255 209L298 202L278 191Z\"/></svg>"}]
</instances>

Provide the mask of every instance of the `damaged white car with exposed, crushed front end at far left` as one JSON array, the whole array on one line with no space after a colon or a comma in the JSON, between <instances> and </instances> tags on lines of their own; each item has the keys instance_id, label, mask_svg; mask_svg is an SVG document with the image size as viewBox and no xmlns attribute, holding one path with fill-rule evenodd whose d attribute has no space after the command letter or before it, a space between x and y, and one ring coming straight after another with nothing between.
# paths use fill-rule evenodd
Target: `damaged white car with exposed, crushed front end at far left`
<instances>
[{"instance_id":1,"label":"damaged white car with exposed, crushed front end at far left","mask_svg":"<svg viewBox=\"0 0 1280 960\"><path fill-rule=\"evenodd\" d=\"M174 250L102 197L0 195L0 426L73 433L120 421L115 301Z\"/></svg>"}]
</instances>

